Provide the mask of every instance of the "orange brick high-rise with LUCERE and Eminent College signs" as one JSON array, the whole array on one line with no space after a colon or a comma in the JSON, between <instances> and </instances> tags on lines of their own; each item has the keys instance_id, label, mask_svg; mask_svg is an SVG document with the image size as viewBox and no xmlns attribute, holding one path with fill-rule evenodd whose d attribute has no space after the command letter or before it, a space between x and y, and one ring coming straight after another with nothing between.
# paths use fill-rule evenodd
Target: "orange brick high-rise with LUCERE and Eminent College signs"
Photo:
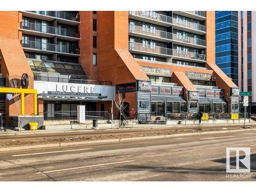
<instances>
[{"instance_id":1,"label":"orange brick high-rise with LUCERE and Eminent College signs","mask_svg":"<svg viewBox=\"0 0 256 192\"><path fill-rule=\"evenodd\" d=\"M118 94L132 119L238 113L239 89L215 63L214 11L3 11L0 19L3 86L25 73L37 92L33 104L21 91L26 118L81 104L110 112ZM3 102L8 121L15 102Z\"/></svg>"}]
</instances>

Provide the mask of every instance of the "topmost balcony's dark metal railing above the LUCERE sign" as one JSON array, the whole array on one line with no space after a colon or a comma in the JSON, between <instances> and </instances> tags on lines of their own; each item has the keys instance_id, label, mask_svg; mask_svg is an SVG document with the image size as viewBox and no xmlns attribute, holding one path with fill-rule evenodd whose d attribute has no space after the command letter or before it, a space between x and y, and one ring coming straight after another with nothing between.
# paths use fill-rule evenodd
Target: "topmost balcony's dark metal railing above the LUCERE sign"
<instances>
[{"instance_id":1,"label":"topmost balcony's dark metal railing above the LUCERE sign","mask_svg":"<svg viewBox=\"0 0 256 192\"><path fill-rule=\"evenodd\" d=\"M31 13L37 13L40 15L46 15L51 17L63 18L67 20L73 20L75 22L79 22L79 15L78 13L68 13L64 11L27 11Z\"/></svg>"}]
</instances>

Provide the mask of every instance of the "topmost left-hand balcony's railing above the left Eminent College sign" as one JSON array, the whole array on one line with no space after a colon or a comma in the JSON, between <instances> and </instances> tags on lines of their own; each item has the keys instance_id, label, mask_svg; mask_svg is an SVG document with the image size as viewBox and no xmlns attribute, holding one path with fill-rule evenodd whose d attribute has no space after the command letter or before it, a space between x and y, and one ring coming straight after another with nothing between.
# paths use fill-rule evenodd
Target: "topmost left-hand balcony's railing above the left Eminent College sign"
<instances>
[{"instance_id":1,"label":"topmost left-hand balcony's railing above the left Eminent College sign","mask_svg":"<svg viewBox=\"0 0 256 192\"><path fill-rule=\"evenodd\" d=\"M138 15L145 18L158 20L159 22L165 22L172 24L172 17L156 13L155 11L129 11L130 15Z\"/></svg>"}]
</instances>

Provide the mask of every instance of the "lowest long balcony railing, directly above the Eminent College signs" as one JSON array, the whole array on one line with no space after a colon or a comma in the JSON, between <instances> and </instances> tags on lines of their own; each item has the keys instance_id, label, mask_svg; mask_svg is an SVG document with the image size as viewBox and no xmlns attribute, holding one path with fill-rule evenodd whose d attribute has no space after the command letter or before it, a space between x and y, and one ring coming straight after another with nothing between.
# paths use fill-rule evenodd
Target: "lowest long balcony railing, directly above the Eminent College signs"
<instances>
[{"instance_id":1,"label":"lowest long balcony railing, directly above the Eminent College signs","mask_svg":"<svg viewBox=\"0 0 256 192\"><path fill-rule=\"evenodd\" d=\"M199 53L194 53L189 51L180 51L176 49L168 49L168 48L163 48L163 47L154 46L154 45L146 45L146 44L141 44L139 42L129 42L129 50L142 51L142 52L161 54L161 55L169 55L170 57L171 56L183 57L187 59L196 59L196 60L205 61L204 54L199 54Z\"/></svg>"}]
</instances>

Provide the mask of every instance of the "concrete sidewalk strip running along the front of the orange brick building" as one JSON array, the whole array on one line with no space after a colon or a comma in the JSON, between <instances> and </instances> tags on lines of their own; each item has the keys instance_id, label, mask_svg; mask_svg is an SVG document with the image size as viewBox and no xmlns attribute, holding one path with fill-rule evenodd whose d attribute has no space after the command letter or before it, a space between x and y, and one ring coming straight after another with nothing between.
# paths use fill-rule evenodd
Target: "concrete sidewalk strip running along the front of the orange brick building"
<instances>
[{"instance_id":1,"label":"concrete sidewalk strip running along the front of the orange brick building","mask_svg":"<svg viewBox=\"0 0 256 192\"><path fill-rule=\"evenodd\" d=\"M13 130L7 130L7 132L0 131L0 137L3 136L10 136L10 135L35 135L35 134L54 134L54 133L87 133L87 132L104 132L104 131L124 131L124 130L145 130L145 129L179 129L179 128L195 128L195 127L228 127L228 126L243 126L244 123L216 123L216 124L178 124L178 125L165 125L165 124L133 124L122 126L121 129L118 130L118 127L99 127L98 129L91 129L91 128L84 128L84 129L63 129L63 130L37 130L37 131L22 131L20 133L19 131L13 131ZM246 126L255 126L256 121L247 122Z\"/></svg>"}]
</instances>

